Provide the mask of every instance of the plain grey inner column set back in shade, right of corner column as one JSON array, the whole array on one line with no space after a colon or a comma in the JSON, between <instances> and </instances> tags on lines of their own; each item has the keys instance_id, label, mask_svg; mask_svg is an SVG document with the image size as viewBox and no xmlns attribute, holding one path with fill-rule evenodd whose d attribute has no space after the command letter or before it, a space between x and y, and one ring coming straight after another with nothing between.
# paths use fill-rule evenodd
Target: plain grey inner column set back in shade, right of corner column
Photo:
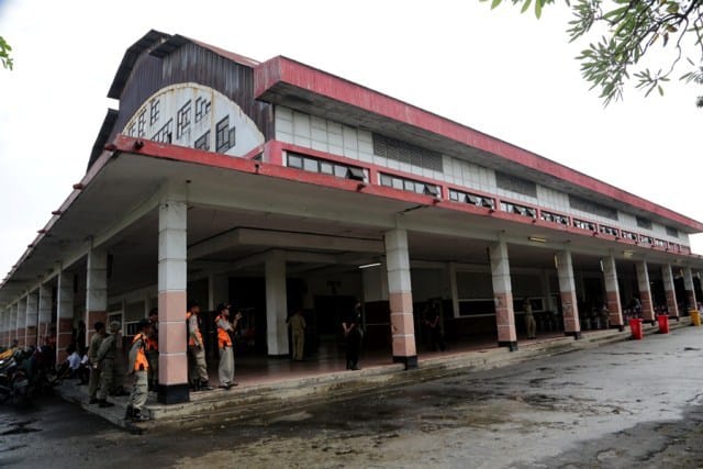
<instances>
[{"instance_id":1,"label":"plain grey inner column set back in shade, right of corner column","mask_svg":"<svg viewBox=\"0 0 703 469\"><path fill-rule=\"evenodd\" d=\"M266 258L266 344L269 357L288 355L288 293L284 253L274 250Z\"/></svg>"}]
</instances>

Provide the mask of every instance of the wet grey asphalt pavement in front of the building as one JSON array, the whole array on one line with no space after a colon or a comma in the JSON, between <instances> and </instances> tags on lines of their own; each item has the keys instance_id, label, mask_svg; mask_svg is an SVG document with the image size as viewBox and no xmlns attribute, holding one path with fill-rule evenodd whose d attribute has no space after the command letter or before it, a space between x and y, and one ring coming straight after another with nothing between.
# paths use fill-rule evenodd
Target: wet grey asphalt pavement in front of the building
<instances>
[{"instance_id":1,"label":"wet grey asphalt pavement in front of the building","mask_svg":"<svg viewBox=\"0 0 703 469\"><path fill-rule=\"evenodd\" d=\"M46 399L0 407L0 466L703 468L702 350L703 328L688 327L260 421L146 435Z\"/></svg>"}]
</instances>

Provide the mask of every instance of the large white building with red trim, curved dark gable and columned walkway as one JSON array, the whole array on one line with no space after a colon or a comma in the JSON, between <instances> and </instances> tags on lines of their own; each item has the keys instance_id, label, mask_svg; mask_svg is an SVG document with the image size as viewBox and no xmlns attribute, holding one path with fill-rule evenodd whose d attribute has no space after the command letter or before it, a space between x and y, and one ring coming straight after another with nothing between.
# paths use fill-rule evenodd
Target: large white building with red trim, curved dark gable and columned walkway
<instances>
[{"instance_id":1,"label":"large white building with red trim, curved dark gable and columned walkway","mask_svg":"<svg viewBox=\"0 0 703 469\"><path fill-rule=\"evenodd\" d=\"M579 338L700 298L703 224L476 130L286 57L150 31L130 47L87 172L0 286L2 344L82 321L123 334L158 308L159 400L189 399L185 311L231 301L252 354L286 320L417 366L425 319L515 349L529 303ZM517 317L517 321L516 321Z\"/></svg>"}]
</instances>

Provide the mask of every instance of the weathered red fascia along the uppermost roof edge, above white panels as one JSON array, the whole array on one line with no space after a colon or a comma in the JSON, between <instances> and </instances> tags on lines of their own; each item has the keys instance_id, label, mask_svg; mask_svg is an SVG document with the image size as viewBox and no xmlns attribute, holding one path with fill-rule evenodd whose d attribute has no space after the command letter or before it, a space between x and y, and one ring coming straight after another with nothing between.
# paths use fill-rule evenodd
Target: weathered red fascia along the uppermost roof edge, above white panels
<instances>
[{"instance_id":1,"label":"weathered red fascia along the uppermost roof edge, above white panels","mask_svg":"<svg viewBox=\"0 0 703 469\"><path fill-rule=\"evenodd\" d=\"M491 153L555 178L674 221L698 232L703 223L618 189L532 152L488 134L433 114L412 104L373 91L325 71L278 56L255 68L255 96L258 98L278 82L284 82L335 101L422 129L464 145Z\"/></svg>"}]
</instances>

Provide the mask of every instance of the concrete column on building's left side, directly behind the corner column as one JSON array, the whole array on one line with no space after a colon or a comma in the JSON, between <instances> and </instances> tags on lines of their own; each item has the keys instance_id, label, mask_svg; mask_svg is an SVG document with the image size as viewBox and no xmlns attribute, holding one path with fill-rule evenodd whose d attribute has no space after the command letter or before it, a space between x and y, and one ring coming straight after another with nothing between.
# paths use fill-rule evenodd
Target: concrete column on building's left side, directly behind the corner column
<instances>
[{"instance_id":1,"label":"concrete column on building's left side, directly behind the corner column","mask_svg":"<svg viewBox=\"0 0 703 469\"><path fill-rule=\"evenodd\" d=\"M88 266L86 278L86 347L90 345L90 337L98 321L108 321L108 252L101 248L88 250Z\"/></svg>"}]
</instances>

